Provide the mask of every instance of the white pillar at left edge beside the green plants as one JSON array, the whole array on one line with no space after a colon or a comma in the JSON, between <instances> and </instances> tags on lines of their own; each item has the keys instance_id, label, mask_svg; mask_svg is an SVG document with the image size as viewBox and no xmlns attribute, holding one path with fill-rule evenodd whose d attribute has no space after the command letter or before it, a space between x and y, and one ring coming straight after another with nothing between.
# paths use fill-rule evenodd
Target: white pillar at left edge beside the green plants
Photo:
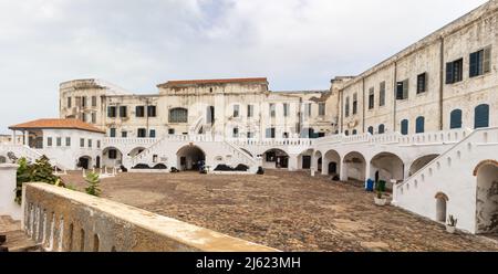
<instances>
[{"instance_id":1,"label":"white pillar at left edge beside the green plants","mask_svg":"<svg viewBox=\"0 0 498 274\"><path fill-rule=\"evenodd\" d=\"M22 220L22 209L15 202L18 165L0 165L0 215L10 215L14 220Z\"/></svg>"}]
</instances>

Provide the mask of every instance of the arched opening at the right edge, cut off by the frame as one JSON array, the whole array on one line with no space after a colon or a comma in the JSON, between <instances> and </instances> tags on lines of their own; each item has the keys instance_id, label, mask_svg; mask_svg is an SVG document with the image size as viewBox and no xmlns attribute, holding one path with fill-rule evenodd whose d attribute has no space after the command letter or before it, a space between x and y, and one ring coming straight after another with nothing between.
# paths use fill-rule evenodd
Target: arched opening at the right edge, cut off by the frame
<instances>
[{"instance_id":1,"label":"arched opening at the right edge, cut off by the frame","mask_svg":"<svg viewBox=\"0 0 498 274\"><path fill-rule=\"evenodd\" d=\"M498 165L486 160L476 167L476 233L498 232Z\"/></svg>"}]
</instances>

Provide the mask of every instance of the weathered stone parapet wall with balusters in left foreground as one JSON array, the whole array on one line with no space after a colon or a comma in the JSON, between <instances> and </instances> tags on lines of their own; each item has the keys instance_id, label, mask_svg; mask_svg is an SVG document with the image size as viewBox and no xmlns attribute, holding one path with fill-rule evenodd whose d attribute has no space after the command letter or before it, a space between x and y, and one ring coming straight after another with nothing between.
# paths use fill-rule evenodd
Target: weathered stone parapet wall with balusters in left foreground
<instances>
[{"instance_id":1,"label":"weathered stone parapet wall with balusters in left foreground","mask_svg":"<svg viewBox=\"0 0 498 274\"><path fill-rule=\"evenodd\" d=\"M46 251L277 252L48 183L27 183L23 196L23 229Z\"/></svg>"}]
</instances>

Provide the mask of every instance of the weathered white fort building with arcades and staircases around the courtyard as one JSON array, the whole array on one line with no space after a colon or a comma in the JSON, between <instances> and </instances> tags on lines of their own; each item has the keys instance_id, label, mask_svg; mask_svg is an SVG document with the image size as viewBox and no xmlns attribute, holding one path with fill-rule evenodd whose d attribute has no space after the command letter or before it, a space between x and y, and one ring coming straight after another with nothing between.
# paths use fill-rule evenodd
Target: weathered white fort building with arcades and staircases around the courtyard
<instances>
[{"instance_id":1,"label":"weathered white fort building with arcades and staircases around the courtyard","mask_svg":"<svg viewBox=\"0 0 498 274\"><path fill-rule=\"evenodd\" d=\"M60 117L11 126L0 162L45 155L62 170L262 167L384 180L394 205L438 222L455 215L470 233L498 231L496 0L329 91L273 92L267 78L157 88L62 83Z\"/></svg>"}]
</instances>

